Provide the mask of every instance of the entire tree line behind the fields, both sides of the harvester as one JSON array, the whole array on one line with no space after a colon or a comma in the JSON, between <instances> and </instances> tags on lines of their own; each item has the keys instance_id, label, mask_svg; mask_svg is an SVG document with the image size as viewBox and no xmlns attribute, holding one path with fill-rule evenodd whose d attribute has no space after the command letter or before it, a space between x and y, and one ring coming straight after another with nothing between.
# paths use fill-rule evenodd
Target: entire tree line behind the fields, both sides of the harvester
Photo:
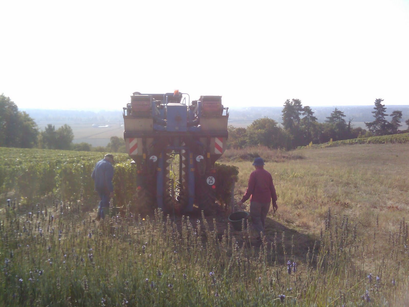
<instances>
[{"instance_id":1,"label":"entire tree line behind the fields, both sides of the harvester","mask_svg":"<svg viewBox=\"0 0 409 307\"><path fill-rule=\"evenodd\" d=\"M348 140L373 135L396 134L399 130L402 111L386 113L383 99L375 99L372 111L374 120L365 122L368 130L354 128L343 111L335 110L325 122L317 122L317 117L309 106L303 106L300 99L287 99L281 111L282 123L264 117L254 120L247 128L229 126L228 148L241 149L247 146L263 145L270 148L293 149L298 146L319 144L330 140ZM387 117L390 116L390 121ZM405 122L409 126L409 120ZM113 136L106 147L92 147L88 143L73 144L74 133L69 125L58 129L48 124L40 131L36 122L18 107L9 97L0 95L0 147L65 149L77 151L126 152L125 141Z\"/></svg>"}]
</instances>

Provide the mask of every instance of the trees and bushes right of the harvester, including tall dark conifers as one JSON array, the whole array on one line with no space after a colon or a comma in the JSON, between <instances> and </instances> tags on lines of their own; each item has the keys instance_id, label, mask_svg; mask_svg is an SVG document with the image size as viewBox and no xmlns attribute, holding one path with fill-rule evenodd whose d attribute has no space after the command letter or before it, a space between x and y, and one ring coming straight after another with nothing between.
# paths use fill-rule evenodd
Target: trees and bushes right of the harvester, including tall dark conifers
<instances>
[{"instance_id":1,"label":"trees and bushes right of the harvester, including tall dark conifers","mask_svg":"<svg viewBox=\"0 0 409 307\"><path fill-rule=\"evenodd\" d=\"M317 122L317 117L309 106L303 106L300 99L287 99L281 111L282 123L264 117L254 120L247 128L229 126L228 148L242 149L247 146L263 145L270 148L293 149L310 143L319 144L330 140L348 140L375 135L401 133L399 128L402 111L386 113L383 99L375 99L372 111L374 120L365 122L368 130L353 127L353 118L346 121L343 111L335 110L325 122ZM387 116L391 120L387 120ZM409 120L405 123L409 126Z\"/></svg>"}]
</instances>

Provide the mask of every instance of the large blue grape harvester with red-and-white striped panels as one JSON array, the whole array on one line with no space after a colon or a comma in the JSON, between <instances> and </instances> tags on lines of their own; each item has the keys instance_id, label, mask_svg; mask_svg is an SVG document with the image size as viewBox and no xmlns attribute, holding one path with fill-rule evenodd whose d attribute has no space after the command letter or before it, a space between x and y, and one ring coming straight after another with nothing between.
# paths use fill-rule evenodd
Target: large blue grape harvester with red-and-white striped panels
<instances>
[{"instance_id":1,"label":"large blue grape harvester with red-and-white striped panels","mask_svg":"<svg viewBox=\"0 0 409 307\"><path fill-rule=\"evenodd\" d=\"M137 201L163 212L209 210L218 174L214 164L226 149L228 109L221 96L133 93L124 109L126 150L136 167ZM179 174L171 163L177 157ZM171 177L175 178L173 187ZM175 207L173 207L175 205Z\"/></svg>"}]
</instances>

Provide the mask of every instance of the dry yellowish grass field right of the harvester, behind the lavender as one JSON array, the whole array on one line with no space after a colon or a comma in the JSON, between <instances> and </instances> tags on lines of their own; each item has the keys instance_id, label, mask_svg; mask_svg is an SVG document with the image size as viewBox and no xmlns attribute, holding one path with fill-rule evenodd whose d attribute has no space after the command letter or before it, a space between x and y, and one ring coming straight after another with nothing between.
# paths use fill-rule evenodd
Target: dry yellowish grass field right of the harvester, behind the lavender
<instances>
[{"instance_id":1,"label":"dry yellowish grass field right of the harvester, behind the lavender","mask_svg":"<svg viewBox=\"0 0 409 307\"><path fill-rule=\"evenodd\" d=\"M253 151L254 156L257 149ZM285 229L291 234L296 230L295 237L300 240L305 235L317 236L325 228L328 208L338 219L346 215L356 222L362 239L370 242L377 216L380 236L385 240L399 219L408 217L409 144L305 148L288 153L261 149L258 154L267 161L279 161L265 165L272 174L279 205L274 217L270 212L267 237ZM225 163L240 169L235 190L239 200L254 167L249 161Z\"/></svg>"}]
</instances>

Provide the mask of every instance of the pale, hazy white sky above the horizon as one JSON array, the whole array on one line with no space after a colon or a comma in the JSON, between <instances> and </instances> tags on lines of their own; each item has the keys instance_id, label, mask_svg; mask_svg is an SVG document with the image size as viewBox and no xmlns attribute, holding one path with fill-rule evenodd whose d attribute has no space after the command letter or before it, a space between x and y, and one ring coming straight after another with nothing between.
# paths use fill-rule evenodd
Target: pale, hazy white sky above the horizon
<instances>
[{"instance_id":1,"label":"pale, hazy white sky above the horizon","mask_svg":"<svg viewBox=\"0 0 409 307\"><path fill-rule=\"evenodd\" d=\"M409 104L409 0L0 2L0 93L119 109L134 91Z\"/></svg>"}]
</instances>

